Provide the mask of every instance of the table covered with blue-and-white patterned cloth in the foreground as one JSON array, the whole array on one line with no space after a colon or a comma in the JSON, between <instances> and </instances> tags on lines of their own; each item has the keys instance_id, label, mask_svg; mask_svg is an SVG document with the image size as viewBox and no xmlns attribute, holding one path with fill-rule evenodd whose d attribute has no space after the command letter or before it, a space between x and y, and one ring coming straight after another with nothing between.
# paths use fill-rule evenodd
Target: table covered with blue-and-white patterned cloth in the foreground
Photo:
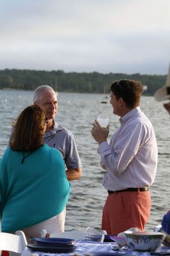
<instances>
[{"instance_id":1,"label":"table covered with blue-and-white patterned cloth in the foreground","mask_svg":"<svg viewBox=\"0 0 170 256\"><path fill-rule=\"evenodd\" d=\"M115 256L120 254L120 256L126 254L128 256L150 256L149 252L134 252L132 250L127 250L124 252L117 252L113 251L111 246L113 244L116 244L115 242L113 243L97 243L97 242L91 242L91 241L77 241L76 246L77 248L73 250L71 253L47 253L47 252L33 252L29 250L29 248L25 248L24 252L22 252L21 256L73 256L73 255L82 255L83 253L93 253L93 252L102 252L102 253L114 253ZM169 252L170 255L170 247L167 246L162 246L158 252Z\"/></svg>"}]
</instances>

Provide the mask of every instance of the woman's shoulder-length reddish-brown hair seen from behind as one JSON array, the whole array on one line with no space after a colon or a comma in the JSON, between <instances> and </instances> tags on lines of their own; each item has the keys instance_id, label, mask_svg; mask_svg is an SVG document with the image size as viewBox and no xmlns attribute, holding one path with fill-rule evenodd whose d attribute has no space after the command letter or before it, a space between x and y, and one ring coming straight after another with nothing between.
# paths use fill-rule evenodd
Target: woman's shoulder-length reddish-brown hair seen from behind
<instances>
[{"instance_id":1,"label":"woman's shoulder-length reddish-brown hair seen from behind","mask_svg":"<svg viewBox=\"0 0 170 256\"><path fill-rule=\"evenodd\" d=\"M43 145L45 113L38 105L24 109L13 125L10 148L19 151L33 151Z\"/></svg>"}]
</instances>

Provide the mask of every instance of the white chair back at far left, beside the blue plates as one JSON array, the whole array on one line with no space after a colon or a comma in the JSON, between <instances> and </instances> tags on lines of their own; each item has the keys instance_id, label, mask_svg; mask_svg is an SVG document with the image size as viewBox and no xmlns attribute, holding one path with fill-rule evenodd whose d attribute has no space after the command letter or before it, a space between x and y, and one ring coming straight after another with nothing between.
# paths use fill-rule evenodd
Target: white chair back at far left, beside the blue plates
<instances>
[{"instance_id":1,"label":"white chair back at far left, beside the blue plates","mask_svg":"<svg viewBox=\"0 0 170 256\"><path fill-rule=\"evenodd\" d=\"M0 232L0 250L22 253L26 248L27 241L24 232L17 231L14 234Z\"/></svg>"}]
</instances>

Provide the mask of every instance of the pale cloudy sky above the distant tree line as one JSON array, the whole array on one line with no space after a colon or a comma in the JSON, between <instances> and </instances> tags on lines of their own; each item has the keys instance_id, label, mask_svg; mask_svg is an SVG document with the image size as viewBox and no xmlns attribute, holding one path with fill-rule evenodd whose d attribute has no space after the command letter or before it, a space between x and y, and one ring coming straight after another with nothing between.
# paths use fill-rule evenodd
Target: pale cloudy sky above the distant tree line
<instances>
[{"instance_id":1,"label":"pale cloudy sky above the distant tree line","mask_svg":"<svg viewBox=\"0 0 170 256\"><path fill-rule=\"evenodd\" d=\"M0 0L0 69L167 74L170 0Z\"/></svg>"}]
</instances>

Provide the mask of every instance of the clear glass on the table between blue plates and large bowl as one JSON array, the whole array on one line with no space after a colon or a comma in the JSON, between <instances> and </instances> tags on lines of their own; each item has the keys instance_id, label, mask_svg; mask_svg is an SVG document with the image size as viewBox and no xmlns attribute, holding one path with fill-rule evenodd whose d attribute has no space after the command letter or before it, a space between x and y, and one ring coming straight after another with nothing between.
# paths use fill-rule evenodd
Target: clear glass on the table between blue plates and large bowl
<instances>
[{"instance_id":1,"label":"clear glass on the table between blue plates and large bowl","mask_svg":"<svg viewBox=\"0 0 170 256\"><path fill-rule=\"evenodd\" d=\"M103 243L105 234L107 234L105 230L97 231L95 228L88 227L85 232L85 237L91 241Z\"/></svg>"}]
</instances>

